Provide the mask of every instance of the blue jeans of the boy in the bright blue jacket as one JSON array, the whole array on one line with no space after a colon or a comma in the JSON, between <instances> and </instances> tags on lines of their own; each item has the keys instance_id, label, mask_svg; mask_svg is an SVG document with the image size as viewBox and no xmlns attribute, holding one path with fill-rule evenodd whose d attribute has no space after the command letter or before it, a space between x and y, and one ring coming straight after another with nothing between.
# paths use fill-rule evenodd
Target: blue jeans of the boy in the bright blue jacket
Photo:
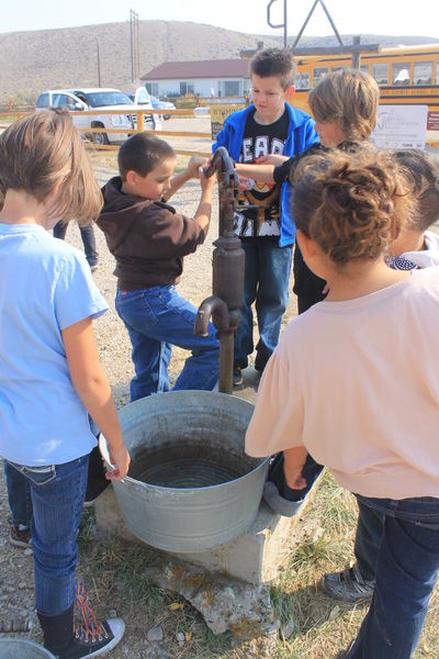
<instances>
[{"instance_id":1,"label":"blue jeans of the boy in the bright blue jacket","mask_svg":"<svg viewBox=\"0 0 439 659\"><path fill-rule=\"evenodd\" d=\"M279 342L282 316L289 301L289 282L293 246L279 247L274 242L243 241L246 255L244 304L235 338L235 366L246 368L254 351L254 314L256 301L259 343L255 366L262 371Z\"/></svg>"}]
</instances>

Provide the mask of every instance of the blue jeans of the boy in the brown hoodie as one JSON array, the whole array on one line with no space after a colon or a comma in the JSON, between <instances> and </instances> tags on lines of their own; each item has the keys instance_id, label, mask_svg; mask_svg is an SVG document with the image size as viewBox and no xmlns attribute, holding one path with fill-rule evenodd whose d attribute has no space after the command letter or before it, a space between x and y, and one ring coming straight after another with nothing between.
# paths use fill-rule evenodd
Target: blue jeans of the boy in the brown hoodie
<instances>
[{"instance_id":1,"label":"blue jeans of the boy in the brown hoodie","mask_svg":"<svg viewBox=\"0 0 439 659\"><path fill-rule=\"evenodd\" d=\"M131 400L169 391L168 366L172 345L191 350L173 387L212 390L218 381L219 342L209 324L209 336L194 336L196 309L181 298L175 286L138 291L117 290L115 306L125 323L136 371Z\"/></svg>"}]
</instances>

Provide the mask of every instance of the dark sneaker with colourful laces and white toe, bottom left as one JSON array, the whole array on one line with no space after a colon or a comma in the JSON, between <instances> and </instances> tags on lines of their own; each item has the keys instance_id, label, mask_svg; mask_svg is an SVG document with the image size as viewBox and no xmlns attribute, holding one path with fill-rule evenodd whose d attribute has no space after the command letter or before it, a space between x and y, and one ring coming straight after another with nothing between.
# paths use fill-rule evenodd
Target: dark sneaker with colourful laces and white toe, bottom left
<instances>
[{"instance_id":1,"label":"dark sneaker with colourful laces and white toe, bottom left","mask_svg":"<svg viewBox=\"0 0 439 659\"><path fill-rule=\"evenodd\" d=\"M80 615L74 624L74 640L59 659L82 659L82 657L105 655L119 644L124 635L124 622L121 618L98 621L88 599L83 585L78 583L76 603Z\"/></svg>"}]
</instances>

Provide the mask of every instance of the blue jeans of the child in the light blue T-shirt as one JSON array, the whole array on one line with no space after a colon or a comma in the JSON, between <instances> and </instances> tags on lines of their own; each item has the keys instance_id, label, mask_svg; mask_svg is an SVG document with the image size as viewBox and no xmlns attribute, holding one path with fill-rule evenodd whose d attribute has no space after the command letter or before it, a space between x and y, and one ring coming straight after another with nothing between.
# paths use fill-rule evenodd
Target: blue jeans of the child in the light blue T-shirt
<instances>
[{"instance_id":1,"label":"blue jeans of the child in the light blue T-shirt","mask_svg":"<svg viewBox=\"0 0 439 659\"><path fill-rule=\"evenodd\" d=\"M64 465L25 467L10 462L27 480L33 504L35 603L59 615L75 601L76 537L86 495L89 456Z\"/></svg>"}]
</instances>

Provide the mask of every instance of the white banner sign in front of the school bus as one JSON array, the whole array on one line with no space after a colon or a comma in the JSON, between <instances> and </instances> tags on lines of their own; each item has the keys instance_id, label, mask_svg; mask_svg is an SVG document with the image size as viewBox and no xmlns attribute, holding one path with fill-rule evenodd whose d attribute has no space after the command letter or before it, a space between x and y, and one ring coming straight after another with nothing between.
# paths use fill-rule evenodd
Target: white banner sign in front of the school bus
<instances>
[{"instance_id":1,"label":"white banner sign in front of the school bus","mask_svg":"<svg viewBox=\"0 0 439 659\"><path fill-rule=\"evenodd\" d=\"M370 141L382 148L425 148L427 105L380 105Z\"/></svg>"}]
</instances>

